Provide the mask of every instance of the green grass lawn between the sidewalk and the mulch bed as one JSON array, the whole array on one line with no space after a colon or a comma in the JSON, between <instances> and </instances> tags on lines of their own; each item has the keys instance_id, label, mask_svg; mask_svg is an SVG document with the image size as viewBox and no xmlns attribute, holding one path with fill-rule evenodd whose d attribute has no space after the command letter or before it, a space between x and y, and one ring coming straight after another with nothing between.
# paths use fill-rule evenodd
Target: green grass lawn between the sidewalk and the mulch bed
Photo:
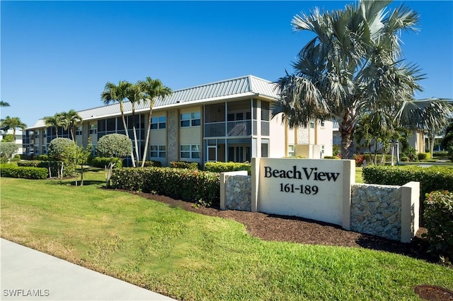
<instances>
[{"instance_id":1,"label":"green grass lawn between the sidewalk and the mulch bed","mask_svg":"<svg viewBox=\"0 0 453 301\"><path fill-rule=\"evenodd\" d=\"M357 169L358 170L358 169ZM418 300L453 270L368 249L264 242L231 220L121 191L1 178L1 237L178 300ZM88 185L87 185L88 184Z\"/></svg>"}]
</instances>

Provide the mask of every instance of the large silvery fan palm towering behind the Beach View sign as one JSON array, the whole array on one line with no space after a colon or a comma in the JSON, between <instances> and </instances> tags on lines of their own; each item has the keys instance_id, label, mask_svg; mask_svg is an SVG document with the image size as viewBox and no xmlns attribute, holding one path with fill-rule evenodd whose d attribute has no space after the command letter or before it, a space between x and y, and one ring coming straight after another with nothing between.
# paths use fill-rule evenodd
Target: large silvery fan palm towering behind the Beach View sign
<instances>
[{"instance_id":1,"label":"large silvery fan palm towering behind the Beach View sign","mask_svg":"<svg viewBox=\"0 0 453 301\"><path fill-rule=\"evenodd\" d=\"M341 157L352 159L360 113L399 107L421 90L423 76L417 66L403 64L399 45L399 34L415 29L418 13L404 6L387 12L390 2L359 1L344 10L320 13L316 8L310 16L294 16L294 30L316 37L299 52L294 74L277 81L280 100L273 117L282 113L292 128L336 118Z\"/></svg>"}]
</instances>

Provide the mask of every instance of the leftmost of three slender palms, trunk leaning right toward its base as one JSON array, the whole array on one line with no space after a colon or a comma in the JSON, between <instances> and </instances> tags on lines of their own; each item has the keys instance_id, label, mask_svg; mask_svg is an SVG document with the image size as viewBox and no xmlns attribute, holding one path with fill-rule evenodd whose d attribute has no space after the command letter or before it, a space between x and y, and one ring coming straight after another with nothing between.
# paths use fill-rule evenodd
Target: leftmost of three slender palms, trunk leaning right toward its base
<instances>
[{"instance_id":1,"label":"leftmost of three slender palms, trunk leaning right toward its base","mask_svg":"<svg viewBox=\"0 0 453 301\"><path fill-rule=\"evenodd\" d=\"M122 118L122 124L125 128L126 136L129 137L129 131L127 130L127 124L125 119L125 108L123 105L123 101L127 98L127 92L130 89L132 83L127 81L119 81L118 85L114 83L107 82L105 83L105 87L103 93L101 93L101 100L104 102L105 105L109 105L110 102L118 102L120 104L120 112ZM134 159L134 152L131 153L132 159L132 166L135 167L135 159Z\"/></svg>"}]
</instances>

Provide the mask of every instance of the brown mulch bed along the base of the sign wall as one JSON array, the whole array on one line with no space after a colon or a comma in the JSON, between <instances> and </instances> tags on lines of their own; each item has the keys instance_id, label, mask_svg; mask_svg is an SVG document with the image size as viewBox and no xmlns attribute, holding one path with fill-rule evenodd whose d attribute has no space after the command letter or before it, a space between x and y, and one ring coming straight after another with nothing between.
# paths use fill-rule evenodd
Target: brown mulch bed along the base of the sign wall
<instances>
[{"instance_id":1,"label":"brown mulch bed along the base of the sign wall","mask_svg":"<svg viewBox=\"0 0 453 301\"><path fill-rule=\"evenodd\" d=\"M146 199L167 203L171 207L179 207L185 211L236 220L239 223L243 223L251 235L263 240L298 242L301 244L323 244L340 247L360 247L433 261L433 258L427 252L425 240L421 238L421 234L426 231L425 228L418 230L416 237L410 244L404 244L374 235L343 230L338 225L296 216L277 216L267 213L236 210L223 211L218 206L194 208L193 203L172 199L168 196L146 193L134 194L143 196ZM437 261L436 259L434 260Z\"/></svg>"}]
</instances>

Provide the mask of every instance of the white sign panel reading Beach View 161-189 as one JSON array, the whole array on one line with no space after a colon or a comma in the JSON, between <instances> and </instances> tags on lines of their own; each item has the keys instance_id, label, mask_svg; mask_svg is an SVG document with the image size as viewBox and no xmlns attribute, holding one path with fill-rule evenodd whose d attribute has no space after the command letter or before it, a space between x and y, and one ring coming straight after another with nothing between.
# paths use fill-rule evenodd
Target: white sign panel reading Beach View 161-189
<instances>
[{"instance_id":1,"label":"white sign panel reading Beach View 161-189","mask_svg":"<svg viewBox=\"0 0 453 301\"><path fill-rule=\"evenodd\" d=\"M345 160L260 158L258 211L343 224ZM348 175L345 175L345 172Z\"/></svg>"}]
</instances>

